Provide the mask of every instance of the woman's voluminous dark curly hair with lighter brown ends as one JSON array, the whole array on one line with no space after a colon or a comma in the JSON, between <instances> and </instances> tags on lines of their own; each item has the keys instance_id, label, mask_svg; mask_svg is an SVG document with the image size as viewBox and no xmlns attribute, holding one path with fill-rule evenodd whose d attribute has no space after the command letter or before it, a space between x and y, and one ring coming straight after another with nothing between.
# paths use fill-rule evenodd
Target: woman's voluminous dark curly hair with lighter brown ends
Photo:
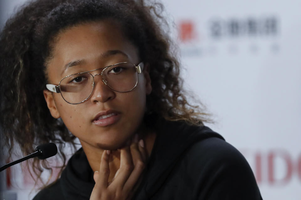
<instances>
[{"instance_id":1,"label":"woman's voluminous dark curly hair with lighter brown ends","mask_svg":"<svg viewBox=\"0 0 301 200\"><path fill-rule=\"evenodd\" d=\"M138 47L141 60L150 65L153 90L146 98L145 122L156 124L164 118L202 125L207 121L203 107L189 104L182 89L180 64L170 37L163 31L168 24L162 11L161 3L143 0L37 0L24 4L0 34L0 128L8 151L17 143L29 154L36 145L51 141L59 144L60 167L65 166L63 148L65 143L74 147L75 137L47 108L45 66L60 31L103 19L117 21ZM51 170L47 161L33 161L38 178L43 169Z\"/></svg>"}]
</instances>

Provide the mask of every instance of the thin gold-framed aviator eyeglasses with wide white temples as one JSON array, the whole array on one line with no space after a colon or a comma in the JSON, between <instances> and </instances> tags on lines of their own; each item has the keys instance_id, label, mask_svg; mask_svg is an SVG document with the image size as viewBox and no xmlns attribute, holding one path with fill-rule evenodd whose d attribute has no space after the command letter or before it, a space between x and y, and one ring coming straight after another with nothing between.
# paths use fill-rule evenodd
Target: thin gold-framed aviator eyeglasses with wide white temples
<instances>
[{"instance_id":1,"label":"thin gold-framed aviator eyeglasses with wide white temples","mask_svg":"<svg viewBox=\"0 0 301 200\"><path fill-rule=\"evenodd\" d=\"M138 74L141 73L143 67L143 62L138 66L129 62L117 63L104 68L71 74L62 78L59 85L46 84L46 88L51 92L61 93L67 103L79 104L86 101L92 94L95 76L101 75L105 85L116 92L125 93L137 86ZM93 76L89 73L100 69L103 69L100 74Z\"/></svg>"}]
</instances>

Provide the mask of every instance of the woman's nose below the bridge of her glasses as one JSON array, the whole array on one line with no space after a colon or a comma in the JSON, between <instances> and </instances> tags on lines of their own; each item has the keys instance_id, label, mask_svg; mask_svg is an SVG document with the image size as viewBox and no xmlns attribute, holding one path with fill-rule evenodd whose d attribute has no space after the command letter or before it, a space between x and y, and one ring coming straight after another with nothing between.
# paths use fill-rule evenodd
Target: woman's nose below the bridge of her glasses
<instances>
[{"instance_id":1,"label":"woman's nose below the bridge of her glasses","mask_svg":"<svg viewBox=\"0 0 301 200\"><path fill-rule=\"evenodd\" d=\"M115 96L116 94L114 90L112 90L103 83L101 75L97 75L94 77L94 89L90 98L92 103L105 103L109 100L114 99Z\"/></svg>"}]
</instances>

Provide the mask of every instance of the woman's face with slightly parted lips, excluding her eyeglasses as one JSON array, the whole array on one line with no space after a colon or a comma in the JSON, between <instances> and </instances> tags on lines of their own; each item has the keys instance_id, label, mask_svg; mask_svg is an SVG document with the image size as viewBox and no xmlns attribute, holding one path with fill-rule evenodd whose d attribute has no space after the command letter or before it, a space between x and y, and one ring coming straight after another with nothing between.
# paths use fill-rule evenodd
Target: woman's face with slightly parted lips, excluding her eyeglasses
<instances>
[{"instance_id":1,"label":"woman's face with slightly parted lips, excluding her eyeglasses","mask_svg":"<svg viewBox=\"0 0 301 200\"><path fill-rule=\"evenodd\" d=\"M124 37L113 21L89 22L68 28L56 38L53 56L47 64L49 83L58 85L62 78L115 63L142 62L138 49ZM72 66L65 67L73 62ZM93 75L101 70L91 72ZM145 98L151 92L148 66L138 75L135 89L115 92L95 76L94 90L83 103L67 103L60 93L44 91L55 118L81 141L83 146L117 149L139 129L145 112ZM112 116L110 116L112 114ZM107 118L100 119L101 116Z\"/></svg>"}]
</instances>

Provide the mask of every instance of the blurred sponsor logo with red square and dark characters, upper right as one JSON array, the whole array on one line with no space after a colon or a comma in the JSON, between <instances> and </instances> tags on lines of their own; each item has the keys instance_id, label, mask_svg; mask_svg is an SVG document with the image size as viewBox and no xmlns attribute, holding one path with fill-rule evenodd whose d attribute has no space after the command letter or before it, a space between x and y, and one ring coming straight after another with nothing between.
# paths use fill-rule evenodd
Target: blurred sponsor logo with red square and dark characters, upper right
<instances>
[{"instance_id":1,"label":"blurred sponsor logo with red square and dark characters, upper right","mask_svg":"<svg viewBox=\"0 0 301 200\"><path fill-rule=\"evenodd\" d=\"M277 53L280 22L276 16L180 20L178 35L183 56L226 53Z\"/></svg>"}]
</instances>

